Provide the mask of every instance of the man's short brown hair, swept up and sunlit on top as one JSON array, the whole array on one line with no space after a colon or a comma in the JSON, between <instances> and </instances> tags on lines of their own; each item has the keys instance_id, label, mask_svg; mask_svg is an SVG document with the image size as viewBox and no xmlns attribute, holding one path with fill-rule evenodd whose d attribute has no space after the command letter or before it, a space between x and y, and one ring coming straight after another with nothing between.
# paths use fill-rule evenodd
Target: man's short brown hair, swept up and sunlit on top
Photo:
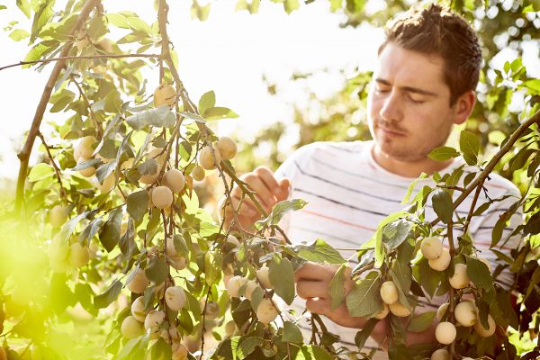
<instances>
[{"instance_id":1,"label":"man's short brown hair, swept up and sunlit on top","mask_svg":"<svg viewBox=\"0 0 540 360\"><path fill-rule=\"evenodd\" d=\"M478 84L482 66L482 49L473 28L458 14L431 4L419 6L398 15L386 24L386 40L403 49L438 55L445 61L444 80L450 87L450 104Z\"/></svg>"}]
</instances>

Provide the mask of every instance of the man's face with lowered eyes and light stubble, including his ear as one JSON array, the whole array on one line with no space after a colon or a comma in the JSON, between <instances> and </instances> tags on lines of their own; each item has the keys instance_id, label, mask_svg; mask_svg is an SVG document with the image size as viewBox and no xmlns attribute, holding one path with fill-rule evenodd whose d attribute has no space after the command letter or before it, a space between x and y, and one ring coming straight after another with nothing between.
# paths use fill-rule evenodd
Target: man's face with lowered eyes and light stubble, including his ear
<instances>
[{"instance_id":1,"label":"man's face with lowered eyes and light stubble, including his ear","mask_svg":"<svg viewBox=\"0 0 540 360\"><path fill-rule=\"evenodd\" d=\"M443 59L388 43L368 96L368 124L378 150L399 161L421 161L446 143L454 123Z\"/></svg>"}]
</instances>

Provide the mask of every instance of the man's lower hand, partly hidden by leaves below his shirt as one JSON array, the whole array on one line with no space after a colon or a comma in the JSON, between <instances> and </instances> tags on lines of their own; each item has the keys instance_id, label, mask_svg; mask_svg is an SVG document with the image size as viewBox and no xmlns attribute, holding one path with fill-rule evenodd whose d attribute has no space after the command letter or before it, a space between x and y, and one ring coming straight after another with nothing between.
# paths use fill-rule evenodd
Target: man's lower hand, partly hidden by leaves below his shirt
<instances>
[{"instance_id":1,"label":"man's lower hand, partly hidden by leaves below his shirt","mask_svg":"<svg viewBox=\"0 0 540 360\"><path fill-rule=\"evenodd\" d=\"M342 302L336 310L332 310L330 297L330 281L336 275L338 266L326 266L315 263L304 264L295 274L296 293L306 300L306 308L316 314L324 315L329 320L347 328L361 329L365 325L365 318L350 316L347 304ZM351 268L345 271L345 296L353 288L354 282L350 279Z\"/></svg>"}]
</instances>

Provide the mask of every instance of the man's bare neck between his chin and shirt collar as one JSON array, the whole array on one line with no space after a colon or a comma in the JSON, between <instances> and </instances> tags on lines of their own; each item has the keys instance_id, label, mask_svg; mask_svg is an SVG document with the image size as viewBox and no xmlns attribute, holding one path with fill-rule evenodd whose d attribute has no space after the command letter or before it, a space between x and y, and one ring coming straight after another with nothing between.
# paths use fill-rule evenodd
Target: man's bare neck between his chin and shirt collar
<instances>
[{"instance_id":1,"label":"man's bare neck between his chin and shirt collar","mask_svg":"<svg viewBox=\"0 0 540 360\"><path fill-rule=\"evenodd\" d=\"M383 167L383 169L392 174L404 177L419 177L422 173L432 175L436 171L443 170L453 162L452 159L437 161L429 157L414 161L401 161L384 154L381 148L376 145L372 148L372 154L375 162Z\"/></svg>"}]
</instances>

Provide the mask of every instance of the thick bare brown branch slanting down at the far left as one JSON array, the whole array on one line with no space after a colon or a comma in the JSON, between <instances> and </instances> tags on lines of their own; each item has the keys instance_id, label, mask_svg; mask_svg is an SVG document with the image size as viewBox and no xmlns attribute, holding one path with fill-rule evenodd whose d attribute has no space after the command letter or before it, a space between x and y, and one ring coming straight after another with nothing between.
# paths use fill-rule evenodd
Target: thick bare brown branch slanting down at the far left
<instances>
[{"instance_id":1,"label":"thick bare brown branch slanting down at the far left","mask_svg":"<svg viewBox=\"0 0 540 360\"><path fill-rule=\"evenodd\" d=\"M92 11L92 9L94 9L94 7L99 4L99 2L100 0L86 1L85 6L81 10L81 13L78 15L75 26L73 27L68 36L68 39L72 39L74 37L76 31L78 31L83 26L86 19L88 18L88 15ZM69 52L69 49L71 49L71 47L72 42L68 41L64 45L64 48L62 49L59 58L66 58L67 53ZM41 121L43 120L43 114L45 113L45 109L47 108L47 103L49 103L52 89L54 88L54 85L58 80L58 76L60 75L60 72L64 68L65 64L66 59L60 59L57 61L54 68L52 69L49 80L47 81L47 85L45 85L45 90L43 90L43 94L41 94L40 103L38 104L38 107L34 114L34 118L31 122L31 128L28 132L28 137L26 138L26 142L24 143L23 150L19 154L17 154L17 157L19 157L19 159L21 160L21 167L19 168L19 176L17 178L17 190L15 194L15 213L17 214L19 214L19 212L21 211L21 206L23 205L24 184L26 183L26 177L28 175L28 163L30 160L31 148L33 147L36 136L38 135L38 131L40 130Z\"/></svg>"}]
</instances>

